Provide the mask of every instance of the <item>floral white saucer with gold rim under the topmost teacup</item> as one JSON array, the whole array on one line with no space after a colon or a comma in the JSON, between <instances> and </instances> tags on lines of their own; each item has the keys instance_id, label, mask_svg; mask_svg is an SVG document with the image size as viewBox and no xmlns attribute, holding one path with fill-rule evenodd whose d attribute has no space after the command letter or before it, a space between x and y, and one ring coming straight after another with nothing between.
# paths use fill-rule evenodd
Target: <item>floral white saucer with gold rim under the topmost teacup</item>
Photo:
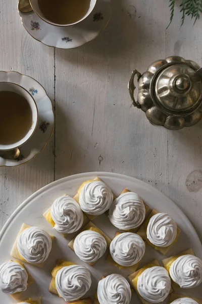
<instances>
[{"instance_id":1,"label":"floral white saucer with gold rim under the topmost teacup","mask_svg":"<svg viewBox=\"0 0 202 304\"><path fill-rule=\"evenodd\" d=\"M36 40L59 49L78 48L95 39L111 17L111 0L97 0L92 13L73 26L55 26L43 21L34 11L19 15L25 29Z\"/></svg>"}]
</instances>

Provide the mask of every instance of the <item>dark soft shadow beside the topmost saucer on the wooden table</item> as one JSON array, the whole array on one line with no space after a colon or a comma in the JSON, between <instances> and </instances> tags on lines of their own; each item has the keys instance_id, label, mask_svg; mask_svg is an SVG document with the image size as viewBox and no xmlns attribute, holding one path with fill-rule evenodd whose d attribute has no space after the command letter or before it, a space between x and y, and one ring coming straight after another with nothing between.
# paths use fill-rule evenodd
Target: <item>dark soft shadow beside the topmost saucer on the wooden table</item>
<instances>
[{"instance_id":1,"label":"dark soft shadow beside the topmost saucer on the wooden table","mask_svg":"<svg viewBox=\"0 0 202 304\"><path fill-rule=\"evenodd\" d=\"M146 34L145 29L140 28L141 22L137 22L137 19L141 16L137 16L136 9L133 5L124 4L124 0L112 1L112 17L106 27L106 29L100 33L96 39L83 47L73 50L57 50L57 56L62 60L70 62L77 62L79 56L84 56L85 60L80 60L79 64L92 65L99 64L99 68L103 64L106 65L108 59L116 58L116 65L114 69L120 69L120 65L117 61L117 57L120 60L127 60L128 53L133 54L135 58L139 58L142 53L140 48L137 48L138 40L144 39L146 36L146 43L150 44L151 37ZM151 42L152 43L152 42ZM90 56L89 56L90 55ZM97 62L98 59L98 62ZM96 69L94 70L96 72Z\"/></svg>"}]
</instances>

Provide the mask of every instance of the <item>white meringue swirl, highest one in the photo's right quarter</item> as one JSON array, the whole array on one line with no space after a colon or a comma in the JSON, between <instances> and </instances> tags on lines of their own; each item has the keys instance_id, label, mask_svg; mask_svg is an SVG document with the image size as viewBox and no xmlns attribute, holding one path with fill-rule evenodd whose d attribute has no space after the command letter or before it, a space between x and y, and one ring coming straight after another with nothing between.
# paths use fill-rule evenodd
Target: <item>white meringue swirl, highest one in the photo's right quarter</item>
<instances>
[{"instance_id":1,"label":"white meringue swirl, highest one in the photo's right quarter","mask_svg":"<svg viewBox=\"0 0 202 304\"><path fill-rule=\"evenodd\" d=\"M147 225L147 239L158 247L168 247L176 239L177 224L166 213L153 215Z\"/></svg>"}]
</instances>

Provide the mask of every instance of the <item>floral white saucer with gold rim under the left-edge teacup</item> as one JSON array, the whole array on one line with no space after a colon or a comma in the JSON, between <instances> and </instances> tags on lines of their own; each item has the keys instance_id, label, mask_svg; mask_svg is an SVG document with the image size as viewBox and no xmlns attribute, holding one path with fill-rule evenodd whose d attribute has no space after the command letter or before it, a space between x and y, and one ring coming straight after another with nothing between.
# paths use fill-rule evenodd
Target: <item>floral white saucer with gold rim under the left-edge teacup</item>
<instances>
[{"instance_id":1,"label":"floral white saucer with gold rim under the left-edge teacup","mask_svg":"<svg viewBox=\"0 0 202 304\"><path fill-rule=\"evenodd\" d=\"M19 147L20 157L15 160L0 157L0 167L13 167L27 163L46 146L54 130L54 112L51 99L47 96L44 88L33 78L19 72L0 71L0 82L11 82L23 87L32 95L38 109L36 130L32 137Z\"/></svg>"}]
</instances>

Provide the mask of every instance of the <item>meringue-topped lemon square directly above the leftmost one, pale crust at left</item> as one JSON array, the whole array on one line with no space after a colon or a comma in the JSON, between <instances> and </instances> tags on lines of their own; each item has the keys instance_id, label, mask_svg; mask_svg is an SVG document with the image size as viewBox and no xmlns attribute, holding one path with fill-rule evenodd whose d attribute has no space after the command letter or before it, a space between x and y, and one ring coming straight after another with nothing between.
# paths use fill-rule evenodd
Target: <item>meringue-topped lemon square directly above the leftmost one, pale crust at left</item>
<instances>
[{"instance_id":1,"label":"meringue-topped lemon square directly above the leftmost one, pale crust at left","mask_svg":"<svg viewBox=\"0 0 202 304\"><path fill-rule=\"evenodd\" d=\"M43 267L44 261L51 252L53 238L39 227L23 224L11 255L23 262Z\"/></svg>"}]
</instances>

